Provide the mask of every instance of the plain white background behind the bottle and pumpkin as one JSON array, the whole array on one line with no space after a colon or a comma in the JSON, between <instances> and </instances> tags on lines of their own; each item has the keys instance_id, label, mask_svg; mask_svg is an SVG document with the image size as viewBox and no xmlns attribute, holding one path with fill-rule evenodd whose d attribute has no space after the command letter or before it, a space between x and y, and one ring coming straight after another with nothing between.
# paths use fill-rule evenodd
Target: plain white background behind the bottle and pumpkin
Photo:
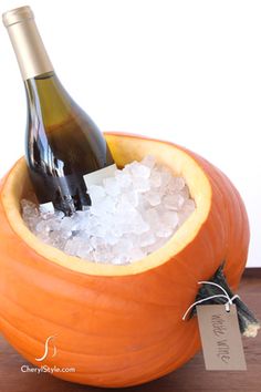
<instances>
[{"instance_id":1,"label":"plain white background behind the bottle and pumpkin","mask_svg":"<svg viewBox=\"0 0 261 392\"><path fill-rule=\"evenodd\" d=\"M2 0L0 11L21 1ZM185 145L219 166L261 266L261 2L28 1L66 90L103 131ZM0 27L0 176L23 154L25 96Z\"/></svg>"}]
</instances>

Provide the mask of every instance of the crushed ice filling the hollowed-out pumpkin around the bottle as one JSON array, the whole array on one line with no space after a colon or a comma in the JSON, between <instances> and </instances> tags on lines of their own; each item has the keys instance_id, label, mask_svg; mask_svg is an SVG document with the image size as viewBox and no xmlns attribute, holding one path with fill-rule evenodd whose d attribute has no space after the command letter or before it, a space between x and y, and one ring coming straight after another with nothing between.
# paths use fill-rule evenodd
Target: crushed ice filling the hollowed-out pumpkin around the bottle
<instances>
[{"instance_id":1,"label":"crushed ice filling the hollowed-out pumpkin around the bottle","mask_svg":"<svg viewBox=\"0 0 261 392\"><path fill-rule=\"evenodd\" d=\"M65 217L21 200L22 216L42 241L94 262L125 265L160 248L195 210L182 177L146 156L88 189L92 206Z\"/></svg>"}]
</instances>

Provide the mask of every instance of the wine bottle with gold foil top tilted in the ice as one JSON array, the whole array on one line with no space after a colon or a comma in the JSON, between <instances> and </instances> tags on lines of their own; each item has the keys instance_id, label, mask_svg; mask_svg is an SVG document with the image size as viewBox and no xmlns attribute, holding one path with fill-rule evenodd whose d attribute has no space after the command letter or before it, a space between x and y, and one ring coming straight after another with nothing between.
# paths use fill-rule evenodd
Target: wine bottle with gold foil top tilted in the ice
<instances>
[{"instance_id":1,"label":"wine bottle with gold foil top tilted in the ice","mask_svg":"<svg viewBox=\"0 0 261 392\"><path fill-rule=\"evenodd\" d=\"M40 209L91 205L87 187L115 169L106 141L59 81L30 7L3 13L24 81L25 159Z\"/></svg>"}]
</instances>

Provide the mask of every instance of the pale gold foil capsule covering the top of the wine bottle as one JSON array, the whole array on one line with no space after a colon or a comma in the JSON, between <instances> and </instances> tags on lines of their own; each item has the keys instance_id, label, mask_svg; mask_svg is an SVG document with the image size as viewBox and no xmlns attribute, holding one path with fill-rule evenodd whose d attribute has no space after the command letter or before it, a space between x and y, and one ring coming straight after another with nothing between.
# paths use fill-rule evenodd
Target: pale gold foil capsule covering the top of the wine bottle
<instances>
[{"instance_id":1,"label":"pale gold foil capsule covering the top of the wine bottle","mask_svg":"<svg viewBox=\"0 0 261 392\"><path fill-rule=\"evenodd\" d=\"M6 12L3 23L8 29L23 80L53 71L29 7Z\"/></svg>"}]
</instances>

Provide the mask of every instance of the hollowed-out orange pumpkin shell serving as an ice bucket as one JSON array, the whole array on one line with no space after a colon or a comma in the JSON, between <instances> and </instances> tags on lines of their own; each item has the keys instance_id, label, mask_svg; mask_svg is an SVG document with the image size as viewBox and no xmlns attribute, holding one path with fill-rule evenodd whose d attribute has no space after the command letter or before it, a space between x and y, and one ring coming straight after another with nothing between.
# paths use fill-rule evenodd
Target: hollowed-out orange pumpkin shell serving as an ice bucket
<instances>
[{"instance_id":1,"label":"hollowed-out orange pumpkin shell serving as an ice bucket","mask_svg":"<svg viewBox=\"0 0 261 392\"><path fill-rule=\"evenodd\" d=\"M197 319L182 321L182 314L196 298L197 282L209 279L223 260L228 282L237 289L249 225L233 185L200 156L136 135L108 133L106 138L119 165L152 154L184 175L197 209L209 204L205 216L196 226L189 218L171 244L132 266L76 260L40 245L23 227L19 202L30 194L30 183L20 159L0 187L0 330L34 365L76 370L54 372L58 378L121 388L167 374L200 349ZM54 334L56 355L38 362Z\"/></svg>"}]
</instances>

